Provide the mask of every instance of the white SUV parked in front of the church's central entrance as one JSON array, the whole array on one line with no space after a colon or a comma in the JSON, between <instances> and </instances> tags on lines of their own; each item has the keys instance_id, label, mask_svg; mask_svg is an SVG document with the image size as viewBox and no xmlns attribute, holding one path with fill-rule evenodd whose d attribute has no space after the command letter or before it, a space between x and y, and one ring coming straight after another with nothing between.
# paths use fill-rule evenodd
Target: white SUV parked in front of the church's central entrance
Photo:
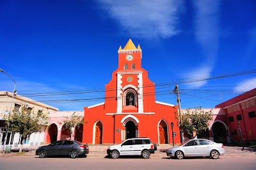
<instances>
[{"instance_id":1,"label":"white SUV parked in front of the church's central entrance","mask_svg":"<svg viewBox=\"0 0 256 170\"><path fill-rule=\"evenodd\" d=\"M141 155L143 158L149 158L150 153L155 153L155 150L157 150L156 143L153 144L147 137L138 137L109 146L107 153L112 158L118 158L119 155Z\"/></svg>"}]
</instances>

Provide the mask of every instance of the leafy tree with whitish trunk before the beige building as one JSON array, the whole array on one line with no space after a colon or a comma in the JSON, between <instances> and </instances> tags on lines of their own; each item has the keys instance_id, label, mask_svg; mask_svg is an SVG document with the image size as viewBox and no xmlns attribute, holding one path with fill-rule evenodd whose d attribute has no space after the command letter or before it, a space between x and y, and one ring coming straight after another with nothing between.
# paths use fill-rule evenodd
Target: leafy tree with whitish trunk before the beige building
<instances>
[{"instance_id":1,"label":"leafy tree with whitish trunk before the beige building","mask_svg":"<svg viewBox=\"0 0 256 170\"><path fill-rule=\"evenodd\" d=\"M42 130L49 123L49 116L38 110L36 113L26 107L21 108L21 112L14 112L8 118L8 130L21 135L22 144L19 152L22 151L24 141L33 132Z\"/></svg>"}]
</instances>

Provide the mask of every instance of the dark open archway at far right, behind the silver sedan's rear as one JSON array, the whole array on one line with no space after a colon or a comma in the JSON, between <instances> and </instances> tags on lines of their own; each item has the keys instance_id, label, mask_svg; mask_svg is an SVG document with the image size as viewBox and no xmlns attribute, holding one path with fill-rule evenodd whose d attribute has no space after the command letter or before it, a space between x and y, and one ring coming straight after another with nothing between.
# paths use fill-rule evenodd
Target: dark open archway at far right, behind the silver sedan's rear
<instances>
[{"instance_id":1,"label":"dark open archway at far right, behind the silver sedan's rear","mask_svg":"<svg viewBox=\"0 0 256 170\"><path fill-rule=\"evenodd\" d=\"M226 128L223 123L216 121L212 125L213 139L216 143L227 143Z\"/></svg>"}]
</instances>

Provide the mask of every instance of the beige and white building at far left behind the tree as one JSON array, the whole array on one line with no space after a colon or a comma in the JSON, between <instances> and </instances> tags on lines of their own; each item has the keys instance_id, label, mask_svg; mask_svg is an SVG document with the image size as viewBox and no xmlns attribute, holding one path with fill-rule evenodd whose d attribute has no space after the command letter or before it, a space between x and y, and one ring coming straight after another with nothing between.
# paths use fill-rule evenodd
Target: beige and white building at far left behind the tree
<instances>
[{"instance_id":1,"label":"beige and white building at far left behind the tree","mask_svg":"<svg viewBox=\"0 0 256 170\"><path fill-rule=\"evenodd\" d=\"M11 108L12 105L12 108ZM25 107L27 111L42 111L45 114L58 111L58 108L51 105L43 104L30 98L15 95L8 91L0 91L0 147L3 146L4 137L6 135L5 119L8 118L9 112L20 112L21 108ZM13 147L20 146L20 134L14 132L8 132L6 138L6 146L11 145ZM34 146L44 143L44 131L35 132L28 137L25 141L25 145Z\"/></svg>"}]
</instances>

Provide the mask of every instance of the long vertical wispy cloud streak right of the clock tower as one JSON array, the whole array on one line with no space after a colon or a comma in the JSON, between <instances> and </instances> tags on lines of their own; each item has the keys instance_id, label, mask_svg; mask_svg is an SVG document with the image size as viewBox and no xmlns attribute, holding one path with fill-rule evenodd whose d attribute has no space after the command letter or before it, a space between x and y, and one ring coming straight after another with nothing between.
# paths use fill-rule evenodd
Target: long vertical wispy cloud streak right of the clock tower
<instances>
[{"instance_id":1,"label":"long vertical wispy cloud streak right of the clock tower","mask_svg":"<svg viewBox=\"0 0 256 170\"><path fill-rule=\"evenodd\" d=\"M219 6L217 0L198 0L193 1L195 9L195 39L202 47L204 61L193 68L185 77L188 79L197 79L209 77L212 68L214 68L218 53L218 37L219 37ZM196 82L191 86L203 86L207 81Z\"/></svg>"}]
</instances>

